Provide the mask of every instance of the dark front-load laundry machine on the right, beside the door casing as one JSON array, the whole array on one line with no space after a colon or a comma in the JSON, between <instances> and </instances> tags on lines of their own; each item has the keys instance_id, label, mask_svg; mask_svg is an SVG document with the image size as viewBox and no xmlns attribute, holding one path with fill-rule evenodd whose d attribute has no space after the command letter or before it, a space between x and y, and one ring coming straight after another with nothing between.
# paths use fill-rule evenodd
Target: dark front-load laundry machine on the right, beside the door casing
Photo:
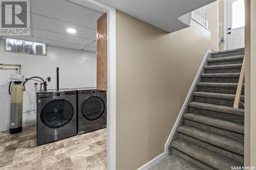
<instances>
[{"instance_id":1,"label":"dark front-load laundry machine on the right, beside the door casing","mask_svg":"<svg viewBox=\"0 0 256 170\"><path fill-rule=\"evenodd\" d=\"M77 134L106 127L106 91L77 88Z\"/></svg>"}]
</instances>

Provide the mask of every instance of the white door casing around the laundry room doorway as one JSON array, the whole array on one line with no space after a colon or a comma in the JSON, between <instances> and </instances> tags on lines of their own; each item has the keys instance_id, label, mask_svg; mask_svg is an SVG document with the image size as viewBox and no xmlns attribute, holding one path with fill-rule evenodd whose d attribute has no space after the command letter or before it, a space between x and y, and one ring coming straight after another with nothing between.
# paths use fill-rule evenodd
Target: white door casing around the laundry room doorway
<instances>
[{"instance_id":1,"label":"white door casing around the laundry room doorway","mask_svg":"<svg viewBox=\"0 0 256 170\"><path fill-rule=\"evenodd\" d=\"M107 14L107 169L114 170L116 169L116 9L95 0L69 1Z\"/></svg>"}]
</instances>

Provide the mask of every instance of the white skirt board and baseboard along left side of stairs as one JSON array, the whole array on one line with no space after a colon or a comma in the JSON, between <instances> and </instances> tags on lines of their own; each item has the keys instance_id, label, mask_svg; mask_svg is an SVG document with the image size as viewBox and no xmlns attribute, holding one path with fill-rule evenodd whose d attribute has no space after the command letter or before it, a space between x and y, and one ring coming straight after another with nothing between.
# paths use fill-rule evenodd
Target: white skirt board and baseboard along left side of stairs
<instances>
[{"instance_id":1,"label":"white skirt board and baseboard along left side of stairs","mask_svg":"<svg viewBox=\"0 0 256 170\"><path fill-rule=\"evenodd\" d=\"M149 169L149 168L151 168L152 166L154 166L155 164L157 164L158 162L160 162L164 157L166 157L166 156L168 155L168 146L169 146L169 144L170 144L170 141L172 140L172 138L173 138L173 136L174 136L174 133L175 133L175 131L176 131L178 125L179 125L180 119L182 118L182 115L183 115L183 113L184 113L184 110L185 110L185 108L186 108L186 106L187 106L187 104L188 104L189 97L190 97L190 95L192 94L192 92L193 92L193 90L194 90L194 88L195 88L195 86L196 86L196 84L197 84L197 80L198 80L198 78L199 78L199 76L200 76L200 74L201 74L201 70L203 69L203 66L204 66L204 64L205 64L205 61L206 61L206 59L207 59L207 56L208 56L208 54L211 53L211 52L212 52L211 50L207 50L207 52L206 52L206 54L205 54L205 56L204 56L204 58L203 58L203 61L202 61L201 65L200 65L200 67L199 67L199 69L198 69L198 71L197 71L197 75L196 75L196 77L195 77L195 79L194 79L194 81L193 81L193 84L191 85L191 87L190 87L190 89L189 89L189 92L188 92L188 94L187 94L187 96L186 96L186 100L185 100L185 102L184 102L184 104L183 104L183 106L182 106L182 108L181 108L181 110L180 110L180 113L179 113L179 115L178 115L178 117L177 117L177 119L176 119L176 122L175 122L175 124L174 124L174 127L173 127L172 131L170 132L169 137L168 137L168 139L167 139L167 141L166 141L166 143L165 143L164 152L163 152L162 154L158 155L157 157L155 157L154 159L152 159L151 161L147 162L146 164L144 164L143 166L141 166L141 167L138 168L137 170L146 170L146 169Z\"/></svg>"}]
</instances>

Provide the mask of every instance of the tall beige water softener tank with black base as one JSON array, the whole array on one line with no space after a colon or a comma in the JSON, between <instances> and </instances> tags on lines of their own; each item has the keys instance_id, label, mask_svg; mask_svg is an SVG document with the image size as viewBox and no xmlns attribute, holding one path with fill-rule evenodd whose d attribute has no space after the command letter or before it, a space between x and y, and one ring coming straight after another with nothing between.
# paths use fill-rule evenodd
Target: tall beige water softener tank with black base
<instances>
[{"instance_id":1,"label":"tall beige water softener tank with black base","mask_svg":"<svg viewBox=\"0 0 256 170\"><path fill-rule=\"evenodd\" d=\"M22 131L23 89L22 82L14 82L11 88L10 134Z\"/></svg>"}]
</instances>

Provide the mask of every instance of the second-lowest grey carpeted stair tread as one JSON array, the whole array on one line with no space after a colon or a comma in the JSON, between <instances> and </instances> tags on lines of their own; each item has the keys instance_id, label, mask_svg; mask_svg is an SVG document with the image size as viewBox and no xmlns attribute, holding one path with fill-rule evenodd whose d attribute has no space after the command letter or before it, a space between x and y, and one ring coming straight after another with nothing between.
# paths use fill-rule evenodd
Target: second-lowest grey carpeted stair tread
<instances>
[{"instance_id":1,"label":"second-lowest grey carpeted stair tread","mask_svg":"<svg viewBox=\"0 0 256 170\"><path fill-rule=\"evenodd\" d=\"M244 143L241 141L191 126L181 126L178 128L178 131L187 136L191 136L198 140L202 140L212 145L216 145L217 147L229 150L240 155L244 155Z\"/></svg>"}]
</instances>

